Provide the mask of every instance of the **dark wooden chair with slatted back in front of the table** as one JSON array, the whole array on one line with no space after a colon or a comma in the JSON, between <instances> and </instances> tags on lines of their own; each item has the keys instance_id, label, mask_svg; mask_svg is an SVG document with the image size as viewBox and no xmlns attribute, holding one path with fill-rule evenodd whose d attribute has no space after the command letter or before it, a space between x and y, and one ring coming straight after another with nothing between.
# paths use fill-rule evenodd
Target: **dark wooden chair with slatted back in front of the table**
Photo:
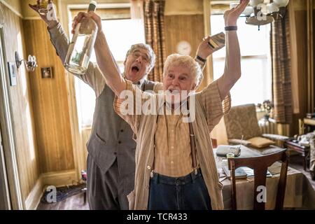
<instances>
[{"instance_id":1,"label":"dark wooden chair with slatted back in front of the table","mask_svg":"<svg viewBox=\"0 0 315 224\"><path fill-rule=\"evenodd\" d=\"M286 175L288 171L288 155L286 149L283 149L277 153L269 155L262 155L252 158L229 158L228 165L231 170L232 188L232 209L237 209L237 197L236 197L236 183L235 183L235 169L238 167L249 167L254 170L254 198L253 204L254 210L265 210L265 202L258 202L256 200L259 191L258 186L266 186L266 174L267 168L274 162L281 161L281 173L279 177L278 190L276 193L276 206L275 209L283 209L284 194L286 191Z\"/></svg>"}]
</instances>

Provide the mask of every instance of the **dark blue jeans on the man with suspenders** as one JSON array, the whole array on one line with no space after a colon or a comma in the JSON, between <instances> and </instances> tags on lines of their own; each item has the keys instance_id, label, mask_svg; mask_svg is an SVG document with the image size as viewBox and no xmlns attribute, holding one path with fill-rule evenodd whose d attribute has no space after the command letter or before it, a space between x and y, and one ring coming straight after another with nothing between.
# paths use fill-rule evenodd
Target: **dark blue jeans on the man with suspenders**
<instances>
[{"instance_id":1,"label":"dark blue jeans on the man with suspenders","mask_svg":"<svg viewBox=\"0 0 315 224\"><path fill-rule=\"evenodd\" d=\"M148 210L211 210L202 173L174 178L154 174L150 180Z\"/></svg>"}]
</instances>

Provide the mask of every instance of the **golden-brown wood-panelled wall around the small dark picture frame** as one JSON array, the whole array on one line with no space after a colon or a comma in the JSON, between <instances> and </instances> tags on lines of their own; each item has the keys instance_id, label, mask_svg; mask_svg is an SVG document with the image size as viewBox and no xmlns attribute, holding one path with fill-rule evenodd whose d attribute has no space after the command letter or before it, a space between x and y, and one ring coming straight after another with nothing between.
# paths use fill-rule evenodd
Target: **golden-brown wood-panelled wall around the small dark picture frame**
<instances>
[{"instance_id":1,"label":"golden-brown wood-panelled wall around the small dark picture frame","mask_svg":"<svg viewBox=\"0 0 315 224\"><path fill-rule=\"evenodd\" d=\"M35 55L38 62L38 68L30 74L30 83L41 172L74 169L64 67L44 22L25 20L24 30L27 52ZM54 78L41 78L41 68L50 66Z\"/></svg>"}]
</instances>

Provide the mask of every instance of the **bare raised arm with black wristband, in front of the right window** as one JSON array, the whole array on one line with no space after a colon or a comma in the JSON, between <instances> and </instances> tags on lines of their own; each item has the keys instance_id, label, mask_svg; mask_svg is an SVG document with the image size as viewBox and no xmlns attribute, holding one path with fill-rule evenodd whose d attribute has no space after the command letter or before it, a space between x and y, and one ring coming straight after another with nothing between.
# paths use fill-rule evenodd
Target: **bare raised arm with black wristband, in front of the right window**
<instances>
[{"instance_id":1,"label":"bare raised arm with black wristband, in front of the right window","mask_svg":"<svg viewBox=\"0 0 315 224\"><path fill-rule=\"evenodd\" d=\"M232 27L237 25L239 15L248 5L249 0L241 0L235 8L227 10L224 14L225 26ZM223 76L218 79L218 89L221 99L224 99L230 89L241 77L241 52L239 50L239 40L237 31L226 32L226 57Z\"/></svg>"}]
</instances>

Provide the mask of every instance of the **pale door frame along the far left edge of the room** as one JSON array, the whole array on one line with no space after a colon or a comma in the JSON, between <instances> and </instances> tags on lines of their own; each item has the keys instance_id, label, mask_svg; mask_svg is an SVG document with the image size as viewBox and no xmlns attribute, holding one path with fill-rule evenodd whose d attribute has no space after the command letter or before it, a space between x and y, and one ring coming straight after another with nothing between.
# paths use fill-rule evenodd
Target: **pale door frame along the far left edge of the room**
<instances>
[{"instance_id":1,"label":"pale door frame along the far left edge of the room","mask_svg":"<svg viewBox=\"0 0 315 224\"><path fill-rule=\"evenodd\" d=\"M6 191L9 191L6 193L7 207L22 210L25 209L25 202L20 186L3 29L3 25L0 25L0 129L2 131L3 160L5 161L1 167L5 167L3 173L6 173Z\"/></svg>"}]
</instances>

